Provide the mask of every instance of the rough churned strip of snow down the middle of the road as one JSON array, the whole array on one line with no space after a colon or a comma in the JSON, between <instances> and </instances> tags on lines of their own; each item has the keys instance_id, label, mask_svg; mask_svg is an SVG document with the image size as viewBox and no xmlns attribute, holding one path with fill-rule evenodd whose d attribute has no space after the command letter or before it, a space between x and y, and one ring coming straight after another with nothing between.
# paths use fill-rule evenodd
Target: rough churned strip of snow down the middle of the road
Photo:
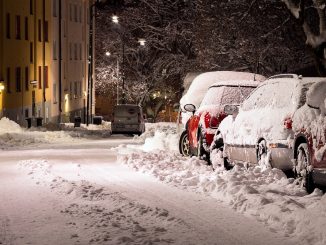
<instances>
[{"instance_id":1,"label":"rough churned strip of snow down the middle of the road","mask_svg":"<svg viewBox=\"0 0 326 245\"><path fill-rule=\"evenodd\" d=\"M167 210L143 205L89 181L68 181L53 174L46 160L21 161L19 167L27 170L36 184L71 198L72 203L60 212L71 217L66 224L71 230L83 230L82 234L71 234L76 244L87 239L89 244L169 244L174 239L168 230L182 230L182 221L171 217Z\"/></svg>"}]
</instances>

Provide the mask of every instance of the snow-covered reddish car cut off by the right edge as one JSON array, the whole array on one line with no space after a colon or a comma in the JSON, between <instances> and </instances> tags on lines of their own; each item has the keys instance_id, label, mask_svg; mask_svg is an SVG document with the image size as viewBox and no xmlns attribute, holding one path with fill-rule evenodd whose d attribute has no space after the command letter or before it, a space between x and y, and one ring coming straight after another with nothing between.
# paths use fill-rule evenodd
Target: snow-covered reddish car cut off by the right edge
<instances>
[{"instance_id":1,"label":"snow-covered reddish car cut off by the right edge","mask_svg":"<svg viewBox=\"0 0 326 245\"><path fill-rule=\"evenodd\" d=\"M315 185L326 186L326 79L310 87L293 129L295 174L310 193Z\"/></svg>"}]
</instances>

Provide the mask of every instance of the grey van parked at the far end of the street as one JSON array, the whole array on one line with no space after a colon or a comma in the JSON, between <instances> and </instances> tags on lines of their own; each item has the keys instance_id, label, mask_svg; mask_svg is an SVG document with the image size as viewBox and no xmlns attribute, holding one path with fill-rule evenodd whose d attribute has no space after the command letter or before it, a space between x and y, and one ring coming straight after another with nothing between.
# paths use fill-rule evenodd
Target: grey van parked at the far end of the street
<instances>
[{"instance_id":1,"label":"grey van parked at the far end of the street","mask_svg":"<svg viewBox=\"0 0 326 245\"><path fill-rule=\"evenodd\" d=\"M138 134L145 132L143 110L139 105L122 104L113 109L112 134Z\"/></svg>"}]
</instances>

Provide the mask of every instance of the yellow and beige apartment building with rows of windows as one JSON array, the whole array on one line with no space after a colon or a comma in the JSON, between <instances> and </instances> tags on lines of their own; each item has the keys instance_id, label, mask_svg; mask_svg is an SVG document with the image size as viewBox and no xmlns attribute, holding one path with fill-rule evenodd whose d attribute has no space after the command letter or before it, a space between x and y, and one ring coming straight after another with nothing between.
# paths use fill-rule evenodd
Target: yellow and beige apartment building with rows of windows
<instances>
[{"instance_id":1,"label":"yellow and beige apartment building with rows of windows","mask_svg":"<svg viewBox=\"0 0 326 245\"><path fill-rule=\"evenodd\" d=\"M90 2L0 0L0 117L86 120Z\"/></svg>"}]
</instances>

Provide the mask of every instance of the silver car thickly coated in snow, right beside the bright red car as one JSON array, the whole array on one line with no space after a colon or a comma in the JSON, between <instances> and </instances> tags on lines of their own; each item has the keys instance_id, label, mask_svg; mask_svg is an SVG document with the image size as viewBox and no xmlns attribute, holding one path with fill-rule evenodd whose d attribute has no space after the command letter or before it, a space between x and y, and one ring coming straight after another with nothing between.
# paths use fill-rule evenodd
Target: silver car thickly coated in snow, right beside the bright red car
<instances>
[{"instance_id":1,"label":"silver car thickly coated in snow, right beside the bright red car","mask_svg":"<svg viewBox=\"0 0 326 245\"><path fill-rule=\"evenodd\" d=\"M230 116L222 121L215 137L215 147L223 144L225 166L252 163L292 171L295 114L305 104L309 87L322 80L325 78L276 75L260 84L240 109L225 106Z\"/></svg>"}]
</instances>

